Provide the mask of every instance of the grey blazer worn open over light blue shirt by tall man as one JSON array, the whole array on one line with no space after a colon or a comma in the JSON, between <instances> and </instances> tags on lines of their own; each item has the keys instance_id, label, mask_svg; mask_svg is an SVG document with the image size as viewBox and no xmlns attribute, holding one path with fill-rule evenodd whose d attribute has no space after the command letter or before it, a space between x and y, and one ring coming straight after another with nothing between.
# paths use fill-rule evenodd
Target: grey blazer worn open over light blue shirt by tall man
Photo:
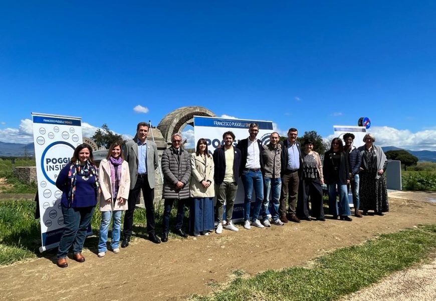
<instances>
[{"instance_id":1,"label":"grey blazer worn open over light blue shirt by tall man","mask_svg":"<svg viewBox=\"0 0 436 301\"><path fill-rule=\"evenodd\" d=\"M129 164L130 171L130 189L136 185L138 179L138 143L135 140L129 140L123 145L124 159ZM147 140L147 178L150 188L155 185L155 170L159 166L159 157L157 146L153 141Z\"/></svg>"}]
</instances>

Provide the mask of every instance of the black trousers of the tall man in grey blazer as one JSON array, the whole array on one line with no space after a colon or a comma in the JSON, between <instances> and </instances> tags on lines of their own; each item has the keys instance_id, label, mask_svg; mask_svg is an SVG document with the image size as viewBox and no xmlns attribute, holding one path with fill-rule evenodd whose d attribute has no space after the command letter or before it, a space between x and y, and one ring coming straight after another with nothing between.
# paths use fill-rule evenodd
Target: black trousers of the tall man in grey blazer
<instances>
[{"instance_id":1,"label":"black trousers of the tall man in grey blazer","mask_svg":"<svg viewBox=\"0 0 436 301\"><path fill-rule=\"evenodd\" d=\"M139 198L139 192L142 190L145 203L145 217L147 218L147 232L148 234L155 234L154 228L154 188L150 188L148 184L147 175L145 177L138 177L135 187L129 191L129 198L127 200L128 209L124 215L123 235L130 237L132 235L133 227L133 213Z\"/></svg>"}]
</instances>

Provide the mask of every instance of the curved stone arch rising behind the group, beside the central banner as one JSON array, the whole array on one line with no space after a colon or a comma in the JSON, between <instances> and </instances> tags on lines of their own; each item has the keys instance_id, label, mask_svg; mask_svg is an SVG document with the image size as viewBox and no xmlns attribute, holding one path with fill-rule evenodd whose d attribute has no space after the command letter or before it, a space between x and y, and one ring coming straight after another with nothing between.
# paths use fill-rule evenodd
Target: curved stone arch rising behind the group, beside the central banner
<instances>
[{"instance_id":1,"label":"curved stone arch rising behind the group, beside the central banner","mask_svg":"<svg viewBox=\"0 0 436 301\"><path fill-rule=\"evenodd\" d=\"M180 133L186 125L193 126L194 116L215 117L216 115L201 106L185 106L178 108L162 118L157 128L162 133L163 138L167 143L171 143L171 135Z\"/></svg>"}]
</instances>

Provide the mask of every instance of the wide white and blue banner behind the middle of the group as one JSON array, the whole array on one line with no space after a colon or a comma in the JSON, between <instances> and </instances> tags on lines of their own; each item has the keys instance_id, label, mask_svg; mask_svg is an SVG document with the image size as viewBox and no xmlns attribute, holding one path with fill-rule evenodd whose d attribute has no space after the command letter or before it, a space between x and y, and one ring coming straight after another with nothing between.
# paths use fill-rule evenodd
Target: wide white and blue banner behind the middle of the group
<instances>
[{"instance_id":1,"label":"wide white and blue banner behind the middle of the group","mask_svg":"<svg viewBox=\"0 0 436 301\"><path fill-rule=\"evenodd\" d=\"M209 154L213 154L214 150L218 145L224 145L223 134L226 131L232 131L236 138L233 146L236 147L239 140L248 138L249 136L249 125L255 122L259 125L259 133L257 138L262 141L262 144L267 144L270 141L270 135L273 130L272 121L264 120L245 120L245 119L226 119L226 118L216 118L216 117L202 117L194 116L194 148L197 145L199 138L204 138L207 142L207 148ZM235 221L240 221L244 216L244 186L241 179L238 181L238 192L235 200L235 206L233 209L232 219ZM256 195L253 189L252 203L250 212L253 213L254 201ZM216 201L216 200L215 200Z\"/></svg>"}]
</instances>

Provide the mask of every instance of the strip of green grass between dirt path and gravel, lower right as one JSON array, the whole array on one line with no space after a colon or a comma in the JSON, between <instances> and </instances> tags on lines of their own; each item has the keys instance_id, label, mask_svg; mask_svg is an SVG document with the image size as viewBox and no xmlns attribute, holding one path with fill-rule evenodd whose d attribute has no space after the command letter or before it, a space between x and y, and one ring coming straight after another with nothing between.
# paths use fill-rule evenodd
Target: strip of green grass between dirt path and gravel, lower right
<instances>
[{"instance_id":1,"label":"strip of green grass between dirt path and gravel, lower right","mask_svg":"<svg viewBox=\"0 0 436 301\"><path fill-rule=\"evenodd\" d=\"M253 277L234 273L230 283L192 300L335 300L410 267L436 247L436 225L384 234L362 245L317 258L310 268L268 270ZM223 289L224 287L224 289Z\"/></svg>"}]
</instances>

